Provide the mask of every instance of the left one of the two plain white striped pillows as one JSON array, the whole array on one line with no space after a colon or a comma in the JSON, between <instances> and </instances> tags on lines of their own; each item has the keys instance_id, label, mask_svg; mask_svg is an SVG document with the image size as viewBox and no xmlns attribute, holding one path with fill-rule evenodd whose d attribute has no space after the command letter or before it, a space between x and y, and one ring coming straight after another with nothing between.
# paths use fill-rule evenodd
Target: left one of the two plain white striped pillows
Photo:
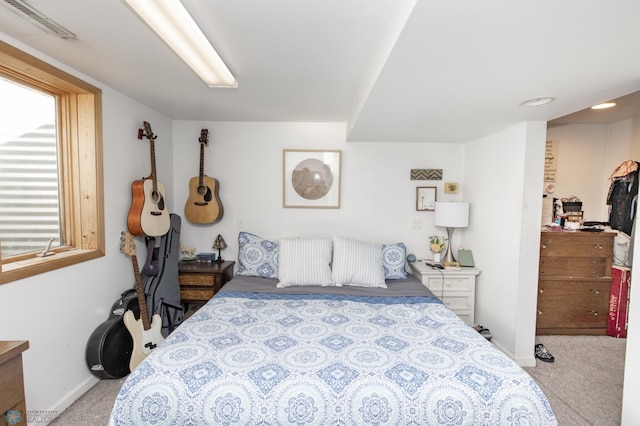
<instances>
[{"instance_id":1,"label":"left one of the two plain white striped pillows","mask_svg":"<svg viewBox=\"0 0 640 426\"><path fill-rule=\"evenodd\" d=\"M276 287L333 285L329 238L283 238L280 240Z\"/></svg>"}]
</instances>

